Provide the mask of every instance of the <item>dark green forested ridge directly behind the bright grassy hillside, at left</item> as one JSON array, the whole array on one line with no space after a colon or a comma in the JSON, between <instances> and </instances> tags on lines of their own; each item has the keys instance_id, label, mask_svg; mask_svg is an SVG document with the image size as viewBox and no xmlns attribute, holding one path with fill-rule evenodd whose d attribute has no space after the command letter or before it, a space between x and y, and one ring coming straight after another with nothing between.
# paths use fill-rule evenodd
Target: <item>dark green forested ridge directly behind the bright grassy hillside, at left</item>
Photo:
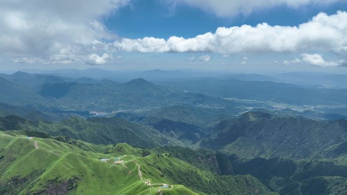
<instances>
[{"instance_id":1,"label":"dark green forested ridge directly behind the bright grassy hillside, at left","mask_svg":"<svg viewBox=\"0 0 347 195\"><path fill-rule=\"evenodd\" d=\"M167 142L177 143L157 130L118 118L73 117L61 122L32 122L18 116L0 118L0 130L37 131L53 136L69 136L96 144L126 142L138 147L154 147Z\"/></svg>"}]
</instances>

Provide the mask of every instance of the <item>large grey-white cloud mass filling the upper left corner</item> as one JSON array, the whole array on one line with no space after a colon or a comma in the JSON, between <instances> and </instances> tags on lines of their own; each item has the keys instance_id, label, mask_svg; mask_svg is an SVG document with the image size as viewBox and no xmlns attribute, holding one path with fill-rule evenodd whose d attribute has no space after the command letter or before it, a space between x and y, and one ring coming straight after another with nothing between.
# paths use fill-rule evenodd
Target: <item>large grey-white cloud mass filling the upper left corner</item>
<instances>
[{"instance_id":1,"label":"large grey-white cloud mass filling the upper left corner","mask_svg":"<svg viewBox=\"0 0 347 195\"><path fill-rule=\"evenodd\" d=\"M0 55L26 63L68 63L105 53L114 40L102 17L130 0L3 0ZM101 55L100 54L100 55Z\"/></svg>"}]
</instances>

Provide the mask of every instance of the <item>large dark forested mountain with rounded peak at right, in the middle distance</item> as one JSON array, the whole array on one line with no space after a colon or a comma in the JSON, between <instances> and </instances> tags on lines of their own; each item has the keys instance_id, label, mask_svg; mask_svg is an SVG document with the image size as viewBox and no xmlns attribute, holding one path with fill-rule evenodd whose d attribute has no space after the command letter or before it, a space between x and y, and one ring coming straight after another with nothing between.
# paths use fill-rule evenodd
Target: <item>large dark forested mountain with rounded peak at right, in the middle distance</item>
<instances>
[{"instance_id":1,"label":"large dark forested mountain with rounded peak at right, in the middle distance","mask_svg":"<svg viewBox=\"0 0 347 195\"><path fill-rule=\"evenodd\" d=\"M304 159L345 141L347 121L273 118L268 113L247 112L238 119L221 122L214 131L212 138L200 142L201 146L249 159Z\"/></svg>"}]
</instances>

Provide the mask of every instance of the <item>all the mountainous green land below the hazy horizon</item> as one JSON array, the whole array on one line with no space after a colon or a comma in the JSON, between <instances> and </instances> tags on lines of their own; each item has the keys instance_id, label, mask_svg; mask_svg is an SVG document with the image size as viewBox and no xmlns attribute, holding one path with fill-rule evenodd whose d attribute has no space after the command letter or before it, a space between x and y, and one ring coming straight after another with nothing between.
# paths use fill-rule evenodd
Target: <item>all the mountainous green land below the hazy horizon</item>
<instances>
[{"instance_id":1,"label":"all the mountainous green land below the hazy horizon","mask_svg":"<svg viewBox=\"0 0 347 195\"><path fill-rule=\"evenodd\" d=\"M0 194L347 195L345 89L76 78L0 74Z\"/></svg>"}]
</instances>

